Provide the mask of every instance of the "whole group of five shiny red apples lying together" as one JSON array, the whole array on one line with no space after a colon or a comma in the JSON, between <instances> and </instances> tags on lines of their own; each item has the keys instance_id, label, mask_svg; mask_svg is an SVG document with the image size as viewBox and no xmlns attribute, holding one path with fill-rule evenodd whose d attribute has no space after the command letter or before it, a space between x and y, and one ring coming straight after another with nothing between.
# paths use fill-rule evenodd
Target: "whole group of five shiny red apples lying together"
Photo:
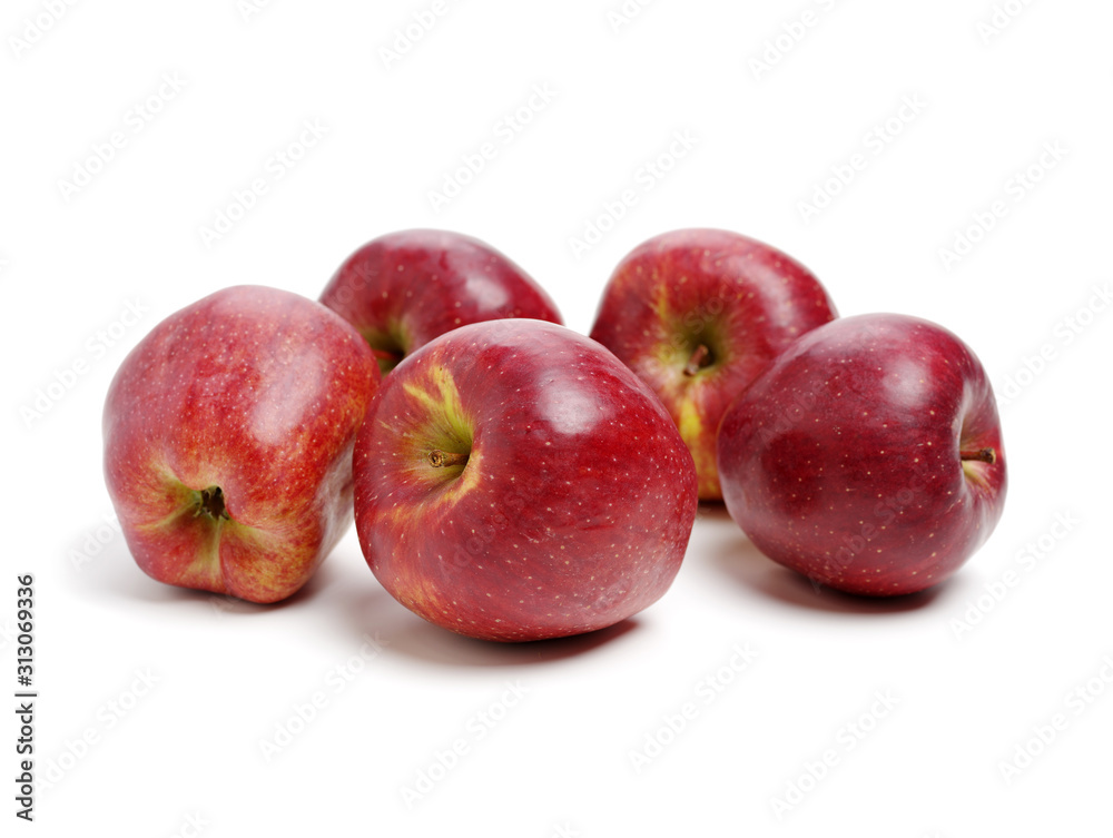
<instances>
[{"instance_id":1,"label":"whole group of five shiny red apples lying together","mask_svg":"<svg viewBox=\"0 0 1113 838\"><path fill-rule=\"evenodd\" d=\"M132 349L104 435L155 579L276 602L354 517L395 599L499 641L656 602L699 501L818 584L893 595L969 558L1006 486L962 341L838 318L802 265L715 229L630 253L590 337L504 255L441 230L368 243L318 302L226 288Z\"/></svg>"}]
</instances>

